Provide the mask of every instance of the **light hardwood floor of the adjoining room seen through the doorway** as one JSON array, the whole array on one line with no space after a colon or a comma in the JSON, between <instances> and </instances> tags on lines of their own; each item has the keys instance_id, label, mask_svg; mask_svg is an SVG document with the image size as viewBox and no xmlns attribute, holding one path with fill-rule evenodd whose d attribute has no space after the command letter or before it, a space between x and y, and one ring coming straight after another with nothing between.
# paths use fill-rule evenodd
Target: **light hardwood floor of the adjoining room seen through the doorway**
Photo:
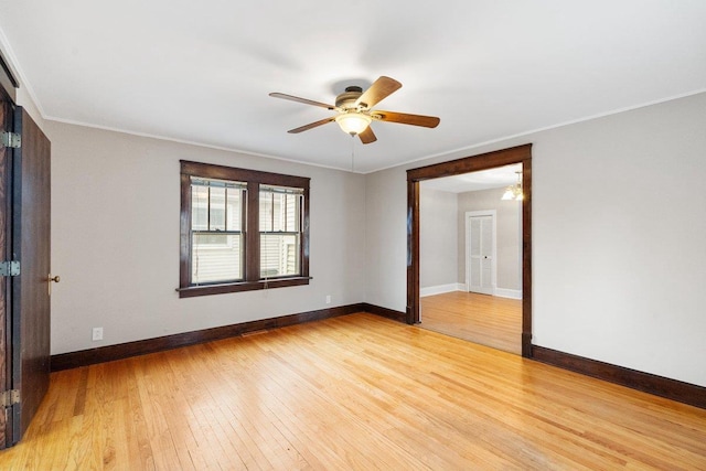
<instances>
[{"instance_id":1,"label":"light hardwood floor of the adjoining room seen through the doorway","mask_svg":"<svg viewBox=\"0 0 706 471\"><path fill-rule=\"evenodd\" d=\"M522 353L522 300L452 291L421 298L425 329Z\"/></svg>"}]
</instances>

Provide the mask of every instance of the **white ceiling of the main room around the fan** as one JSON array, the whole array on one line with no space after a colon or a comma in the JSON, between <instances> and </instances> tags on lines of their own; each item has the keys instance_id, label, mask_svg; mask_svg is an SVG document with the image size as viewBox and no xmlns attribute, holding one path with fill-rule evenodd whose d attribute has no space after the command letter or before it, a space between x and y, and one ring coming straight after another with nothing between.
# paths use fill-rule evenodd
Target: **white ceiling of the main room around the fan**
<instances>
[{"instance_id":1,"label":"white ceiling of the main room around the fan","mask_svg":"<svg viewBox=\"0 0 706 471\"><path fill-rule=\"evenodd\" d=\"M706 90L704 0L0 0L0 47L49 119L371 172ZM323 108L387 75L363 146ZM354 159L352 159L352 152Z\"/></svg>"}]
</instances>

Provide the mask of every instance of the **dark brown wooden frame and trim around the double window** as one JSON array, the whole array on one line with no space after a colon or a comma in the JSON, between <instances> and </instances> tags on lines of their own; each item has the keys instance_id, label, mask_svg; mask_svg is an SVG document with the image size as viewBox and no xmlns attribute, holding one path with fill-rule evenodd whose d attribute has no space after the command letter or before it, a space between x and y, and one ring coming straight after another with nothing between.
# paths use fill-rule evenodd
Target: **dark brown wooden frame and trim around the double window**
<instances>
[{"instance_id":1,"label":"dark brown wooden frame and trim around the double window","mask_svg":"<svg viewBox=\"0 0 706 471\"><path fill-rule=\"evenodd\" d=\"M284 175L257 170L237 169L210 163L181 160L181 244L179 264L180 298L221 295L226 292L253 291L258 289L284 288L309 285L309 183L306 176ZM245 212L245 279L243 281L191 286L191 176L247 182L247 211ZM303 190L300 260L301 275L260 279L259 257L259 186L261 184L290 186Z\"/></svg>"}]
</instances>

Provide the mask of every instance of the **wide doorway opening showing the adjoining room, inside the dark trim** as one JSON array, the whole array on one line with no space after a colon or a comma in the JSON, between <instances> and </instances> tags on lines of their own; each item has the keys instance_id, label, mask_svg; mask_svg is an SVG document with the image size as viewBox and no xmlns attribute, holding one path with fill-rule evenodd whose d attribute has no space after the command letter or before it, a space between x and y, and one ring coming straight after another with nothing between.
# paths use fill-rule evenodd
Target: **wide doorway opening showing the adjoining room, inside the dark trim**
<instances>
[{"instance_id":1,"label":"wide doorway opening showing the adjoining room, inside the dark trim","mask_svg":"<svg viewBox=\"0 0 706 471\"><path fill-rule=\"evenodd\" d=\"M522 164L425 180L419 193L420 323L522 352Z\"/></svg>"}]
</instances>

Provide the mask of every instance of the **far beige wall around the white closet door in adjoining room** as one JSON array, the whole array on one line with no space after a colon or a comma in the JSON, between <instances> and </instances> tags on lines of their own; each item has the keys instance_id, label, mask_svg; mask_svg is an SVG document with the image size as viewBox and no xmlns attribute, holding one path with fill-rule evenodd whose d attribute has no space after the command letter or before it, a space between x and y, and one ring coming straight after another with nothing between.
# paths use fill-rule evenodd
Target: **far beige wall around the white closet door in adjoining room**
<instances>
[{"instance_id":1,"label":"far beige wall around the white closet door in adjoining room","mask_svg":"<svg viewBox=\"0 0 706 471\"><path fill-rule=\"evenodd\" d=\"M496 288L518 291L522 289L520 261L521 213L516 201L502 201L504 189L473 191L458 195L458 282L466 282L466 213L468 211L495 211ZM421 217L420 217L421 221Z\"/></svg>"}]
</instances>

